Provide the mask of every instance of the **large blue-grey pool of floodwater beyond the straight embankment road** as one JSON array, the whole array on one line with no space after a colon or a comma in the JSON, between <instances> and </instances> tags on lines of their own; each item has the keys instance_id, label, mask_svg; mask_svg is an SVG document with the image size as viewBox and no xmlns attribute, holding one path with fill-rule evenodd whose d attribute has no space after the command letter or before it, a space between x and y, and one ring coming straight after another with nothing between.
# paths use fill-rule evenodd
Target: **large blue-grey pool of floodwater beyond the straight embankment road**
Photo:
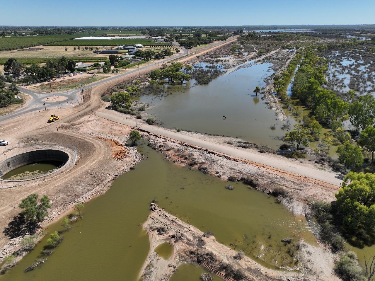
<instances>
[{"instance_id":1,"label":"large blue-grey pool of floodwater beyond the straight embankment road","mask_svg":"<svg viewBox=\"0 0 375 281\"><path fill-rule=\"evenodd\" d=\"M150 103L147 113L170 129L197 131L242 138L258 145L278 149L285 131L275 111L255 96L256 86L264 87L264 78L273 73L271 63L244 64L236 71L221 75L208 85L166 86L142 95L140 102ZM225 116L226 118L224 118ZM291 125L296 120L289 116ZM271 129L275 125L275 129Z\"/></svg>"}]
</instances>

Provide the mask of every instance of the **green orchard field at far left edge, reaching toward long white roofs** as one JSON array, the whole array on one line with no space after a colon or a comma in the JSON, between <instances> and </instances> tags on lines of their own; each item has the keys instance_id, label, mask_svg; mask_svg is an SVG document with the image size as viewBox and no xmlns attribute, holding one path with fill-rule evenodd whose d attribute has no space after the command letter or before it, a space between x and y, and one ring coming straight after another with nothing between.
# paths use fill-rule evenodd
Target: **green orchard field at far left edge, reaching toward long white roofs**
<instances>
[{"instance_id":1,"label":"green orchard field at far left edge, reaching toward long white roofs","mask_svg":"<svg viewBox=\"0 0 375 281\"><path fill-rule=\"evenodd\" d=\"M10 50L15 50L15 49L39 46L39 45L46 45L46 44L50 44L54 42L68 41L73 38L78 38L82 36L86 36L86 34L0 37L0 51L10 51ZM90 36L90 35L87 35L87 36Z\"/></svg>"}]
</instances>

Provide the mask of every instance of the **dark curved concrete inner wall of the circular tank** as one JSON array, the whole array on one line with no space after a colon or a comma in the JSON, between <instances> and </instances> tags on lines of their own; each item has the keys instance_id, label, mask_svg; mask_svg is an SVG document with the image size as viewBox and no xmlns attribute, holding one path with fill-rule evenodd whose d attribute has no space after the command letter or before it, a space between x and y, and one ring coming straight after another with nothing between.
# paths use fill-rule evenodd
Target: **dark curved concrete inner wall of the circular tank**
<instances>
[{"instance_id":1,"label":"dark curved concrete inner wall of the circular tank","mask_svg":"<svg viewBox=\"0 0 375 281\"><path fill-rule=\"evenodd\" d=\"M8 172L24 165L38 164L42 162L55 162L59 164L57 165L58 168L62 168L69 161L69 158L68 153L58 149L31 150L1 161L0 171L3 175L5 175ZM43 172L43 174L40 174L40 176L44 176L49 173L52 173L52 171ZM38 175L36 174L35 177L38 177Z\"/></svg>"}]
</instances>

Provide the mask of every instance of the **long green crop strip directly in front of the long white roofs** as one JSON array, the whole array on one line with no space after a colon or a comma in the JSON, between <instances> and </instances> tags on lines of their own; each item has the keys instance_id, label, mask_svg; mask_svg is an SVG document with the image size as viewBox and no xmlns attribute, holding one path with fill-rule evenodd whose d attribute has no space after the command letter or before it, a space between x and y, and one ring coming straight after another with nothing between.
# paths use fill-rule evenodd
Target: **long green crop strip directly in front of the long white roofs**
<instances>
[{"instance_id":1,"label":"long green crop strip directly in front of the long white roofs","mask_svg":"<svg viewBox=\"0 0 375 281\"><path fill-rule=\"evenodd\" d=\"M171 45L170 43L155 43L153 40L150 39L93 39L93 40L86 40L86 39L80 39L80 40L69 40L64 42L56 42L52 44L45 44L48 46L117 46L117 45L129 45L132 46L134 44L142 44L146 46L156 46L156 45Z\"/></svg>"}]
</instances>

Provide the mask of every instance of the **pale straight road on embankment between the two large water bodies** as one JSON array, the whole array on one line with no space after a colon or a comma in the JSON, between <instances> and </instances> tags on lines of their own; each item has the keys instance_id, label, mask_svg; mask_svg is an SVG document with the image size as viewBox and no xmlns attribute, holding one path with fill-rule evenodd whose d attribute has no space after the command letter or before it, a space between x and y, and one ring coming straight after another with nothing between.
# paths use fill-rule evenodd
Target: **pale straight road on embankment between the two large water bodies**
<instances>
[{"instance_id":1,"label":"pale straight road on embankment between the two large water bodies","mask_svg":"<svg viewBox=\"0 0 375 281\"><path fill-rule=\"evenodd\" d=\"M292 162L289 159L279 159L276 157L267 156L263 153L256 153L251 150L242 150L236 147L229 147L222 144L211 143L209 141L201 140L190 135L184 135L178 132L170 131L168 129L142 124L138 119L126 117L123 114L117 113L112 110L105 110L95 114L96 116L104 119L114 121L123 125L136 127L163 137L171 138L173 140L181 141L183 143L192 144L205 149L213 150L229 156L245 159L248 161L256 162L262 165L267 165L279 170L288 171L311 179L320 180L322 182L330 183L333 185L340 185L342 180L337 178L336 174L326 171L318 170L314 167L306 167L298 162ZM138 120L138 121L137 121Z\"/></svg>"}]
</instances>

